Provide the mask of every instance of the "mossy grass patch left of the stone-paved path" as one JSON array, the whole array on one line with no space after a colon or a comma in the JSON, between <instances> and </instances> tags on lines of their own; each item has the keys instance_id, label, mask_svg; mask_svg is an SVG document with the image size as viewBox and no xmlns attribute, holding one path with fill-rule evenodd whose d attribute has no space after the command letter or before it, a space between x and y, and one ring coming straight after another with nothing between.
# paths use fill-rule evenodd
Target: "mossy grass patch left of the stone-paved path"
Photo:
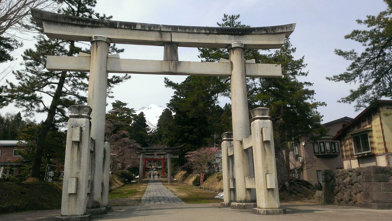
<instances>
[{"instance_id":1,"label":"mossy grass patch left of the stone-paved path","mask_svg":"<svg viewBox=\"0 0 392 221\"><path fill-rule=\"evenodd\" d=\"M109 206L137 206L140 204L146 184L131 183L109 193Z\"/></svg>"}]
</instances>

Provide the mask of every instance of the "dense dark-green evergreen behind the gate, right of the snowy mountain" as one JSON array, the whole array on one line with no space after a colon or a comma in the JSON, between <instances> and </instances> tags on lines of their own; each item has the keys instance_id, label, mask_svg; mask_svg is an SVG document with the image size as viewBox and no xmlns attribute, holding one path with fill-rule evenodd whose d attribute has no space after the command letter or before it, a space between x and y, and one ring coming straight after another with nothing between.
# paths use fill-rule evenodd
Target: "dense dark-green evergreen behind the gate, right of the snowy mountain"
<instances>
[{"instance_id":1,"label":"dense dark-green evergreen behind the gate, right of the snowy mountain","mask_svg":"<svg viewBox=\"0 0 392 221\"><path fill-rule=\"evenodd\" d=\"M227 85L219 78L205 76L189 76L182 83L165 78L165 84L175 92L167 104L169 110L160 118L157 133L165 146L184 146L178 162L183 165L186 152L213 146L212 136L227 128L220 125L223 109L217 105L218 95Z\"/></svg>"}]
</instances>

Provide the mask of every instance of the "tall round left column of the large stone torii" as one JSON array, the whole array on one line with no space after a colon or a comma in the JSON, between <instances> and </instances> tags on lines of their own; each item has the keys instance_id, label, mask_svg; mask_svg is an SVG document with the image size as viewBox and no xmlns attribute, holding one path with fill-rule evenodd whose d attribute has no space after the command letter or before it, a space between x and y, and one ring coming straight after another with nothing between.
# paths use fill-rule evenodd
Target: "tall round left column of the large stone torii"
<instances>
[{"instance_id":1,"label":"tall round left column of the large stone torii","mask_svg":"<svg viewBox=\"0 0 392 221\"><path fill-rule=\"evenodd\" d=\"M91 193L87 208L103 207L102 193L102 165L105 135L106 114L106 88L107 71L106 62L109 53L110 40L102 35L91 37L91 62L89 75L89 91L87 105L91 112L91 138L95 140L93 158L91 159ZM106 213L106 212L102 212Z\"/></svg>"}]
</instances>

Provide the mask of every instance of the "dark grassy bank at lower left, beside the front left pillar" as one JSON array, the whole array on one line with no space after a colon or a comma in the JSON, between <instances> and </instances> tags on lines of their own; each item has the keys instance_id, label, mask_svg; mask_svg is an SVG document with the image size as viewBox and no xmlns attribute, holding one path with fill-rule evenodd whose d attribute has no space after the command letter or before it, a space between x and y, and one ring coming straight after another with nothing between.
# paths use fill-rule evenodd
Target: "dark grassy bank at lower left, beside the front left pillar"
<instances>
[{"instance_id":1,"label":"dark grassy bank at lower left, beside the front left pillar","mask_svg":"<svg viewBox=\"0 0 392 221\"><path fill-rule=\"evenodd\" d=\"M62 190L44 181L0 183L0 213L61 207Z\"/></svg>"}]
</instances>

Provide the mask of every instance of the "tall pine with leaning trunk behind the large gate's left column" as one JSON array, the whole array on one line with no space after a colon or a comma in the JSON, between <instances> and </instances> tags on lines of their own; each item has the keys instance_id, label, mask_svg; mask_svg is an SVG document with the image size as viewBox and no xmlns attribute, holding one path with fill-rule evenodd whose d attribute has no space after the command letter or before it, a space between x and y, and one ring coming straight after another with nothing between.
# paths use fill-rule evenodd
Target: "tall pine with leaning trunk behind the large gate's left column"
<instances>
[{"instance_id":1,"label":"tall pine with leaning trunk behind the large gate's left column","mask_svg":"<svg viewBox=\"0 0 392 221\"><path fill-rule=\"evenodd\" d=\"M112 16L106 16L96 13L93 8L96 0L58 0L58 3L64 3L65 7L58 10L58 13L98 18L109 20ZM39 177L39 169L44 156L44 145L47 134L53 123L61 123L67 120L67 110L70 105L86 102L87 80L88 74L85 72L56 72L46 71L45 63L47 55L57 56L75 56L79 52L88 52L90 49L82 49L78 47L74 41L47 39L42 33L42 27L37 26L41 32L37 36L38 42L35 49L27 49L22 58L24 70L13 72L17 85L7 82L9 88L6 91L7 99L2 105L15 102L16 107L23 108L27 114L34 112L47 113L45 121L39 128L36 139L36 148L34 152L33 165L31 169L31 177ZM110 52L122 52L113 44ZM113 76L108 78L108 94L114 84L118 84L129 79L129 75ZM51 98L50 104L44 101L44 95Z\"/></svg>"}]
</instances>

